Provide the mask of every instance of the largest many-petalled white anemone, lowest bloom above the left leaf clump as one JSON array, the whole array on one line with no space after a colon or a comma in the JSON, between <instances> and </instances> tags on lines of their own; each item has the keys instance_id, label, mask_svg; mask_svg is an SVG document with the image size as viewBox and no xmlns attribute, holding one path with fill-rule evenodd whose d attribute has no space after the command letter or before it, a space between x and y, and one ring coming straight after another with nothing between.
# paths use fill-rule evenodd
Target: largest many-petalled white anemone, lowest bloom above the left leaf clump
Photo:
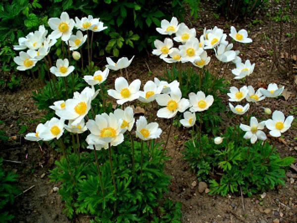
<instances>
[{"instance_id":1,"label":"largest many-petalled white anemone, lowest bloom above the left leaf clump","mask_svg":"<svg viewBox=\"0 0 297 223\"><path fill-rule=\"evenodd\" d=\"M106 144L117 146L124 141L124 135L121 129L122 120L117 119L113 113L97 114L95 120L89 119L87 128L91 134L88 135L87 141L94 145L102 145L106 148Z\"/></svg>"}]
</instances>

